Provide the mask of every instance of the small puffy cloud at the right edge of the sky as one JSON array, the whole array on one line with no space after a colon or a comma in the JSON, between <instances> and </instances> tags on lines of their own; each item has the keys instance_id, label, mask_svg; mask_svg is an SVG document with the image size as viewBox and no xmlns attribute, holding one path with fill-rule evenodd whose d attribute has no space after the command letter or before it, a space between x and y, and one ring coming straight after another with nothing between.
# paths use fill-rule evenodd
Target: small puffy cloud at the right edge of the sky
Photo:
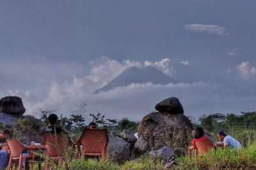
<instances>
[{"instance_id":1,"label":"small puffy cloud at the right edge of the sky","mask_svg":"<svg viewBox=\"0 0 256 170\"><path fill-rule=\"evenodd\" d=\"M249 61L237 65L236 68L243 79L251 79L256 75L256 68Z\"/></svg>"}]
</instances>

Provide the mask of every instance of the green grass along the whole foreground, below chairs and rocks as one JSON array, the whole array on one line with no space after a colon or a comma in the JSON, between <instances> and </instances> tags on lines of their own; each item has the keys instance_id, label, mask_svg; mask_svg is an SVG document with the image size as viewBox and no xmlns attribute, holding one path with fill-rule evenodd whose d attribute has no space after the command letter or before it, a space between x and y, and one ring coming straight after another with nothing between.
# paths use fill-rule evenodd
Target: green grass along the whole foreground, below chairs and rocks
<instances>
[{"instance_id":1,"label":"green grass along the whole foreground, below chairs and rocks","mask_svg":"<svg viewBox=\"0 0 256 170\"><path fill-rule=\"evenodd\" d=\"M63 167L61 170L67 169ZM87 161L72 160L68 169L92 169L92 170L158 170L164 169L161 160L151 158L149 155L138 160L127 161L124 164L117 164L109 160L98 161L88 159ZM249 144L241 150L218 149L212 150L200 157L191 158L188 156L179 157L178 164L173 165L171 169L256 169L256 143Z\"/></svg>"}]
</instances>

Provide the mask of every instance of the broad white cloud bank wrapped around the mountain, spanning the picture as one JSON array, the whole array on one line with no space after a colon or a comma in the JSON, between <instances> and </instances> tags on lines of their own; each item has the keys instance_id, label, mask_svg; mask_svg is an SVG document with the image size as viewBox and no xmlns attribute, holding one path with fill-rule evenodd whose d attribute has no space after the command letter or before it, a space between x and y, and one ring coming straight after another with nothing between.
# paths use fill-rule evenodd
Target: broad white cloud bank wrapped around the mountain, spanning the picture
<instances>
[{"instance_id":1,"label":"broad white cloud bank wrapped around the mountain, spanning the picture","mask_svg":"<svg viewBox=\"0 0 256 170\"><path fill-rule=\"evenodd\" d=\"M186 62L185 62L186 63ZM178 64L178 63L177 63ZM108 57L102 57L90 61L84 67L88 72L84 75L72 75L65 81L52 79L45 95L37 95L35 92L24 89L9 89L6 92L0 91L0 96L18 95L22 97L27 109L26 114L33 114L44 109L59 109L58 112L68 116L70 111L76 108L76 104L86 101L88 113L102 112L108 118L128 117L133 120L140 120L145 114L154 111L157 102L168 97L178 97L182 102L185 113L198 117L202 114L212 112L239 112L246 109L256 109L253 101L255 95L248 93L254 88L246 88L241 91L239 86L225 86L218 82L190 82L179 84L154 85L143 84L143 87L136 86L119 87L108 92L92 95L96 90L111 81L116 75L129 66L156 66L159 70L173 72L175 62L164 58L160 61L116 61ZM180 64L179 64L180 65ZM244 65L244 64L243 64ZM237 70L248 66L237 66ZM187 68L187 67L182 67ZM252 66L250 71L255 72ZM187 72L188 76L192 75ZM38 88L39 89L39 88ZM250 92L250 91L249 91ZM147 99L147 100L146 100ZM250 110L251 111L251 110ZM90 121L90 120L87 120Z\"/></svg>"}]
</instances>

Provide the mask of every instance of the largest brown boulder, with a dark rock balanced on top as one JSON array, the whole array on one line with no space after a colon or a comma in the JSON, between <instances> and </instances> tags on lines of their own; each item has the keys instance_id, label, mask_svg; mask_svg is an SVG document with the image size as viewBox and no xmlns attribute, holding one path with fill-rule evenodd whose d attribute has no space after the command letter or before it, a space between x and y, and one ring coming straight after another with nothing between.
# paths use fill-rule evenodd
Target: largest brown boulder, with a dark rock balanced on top
<instances>
[{"instance_id":1,"label":"largest brown boulder, with a dark rock balanced on top","mask_svg":"<svg viewBox=\"0 0 256 170\"><path fill-rule=\"evenodd\" d=\"M138 134L148 142L150 148L157 142L173 148L188 148L188 137L192 130L191 121L184 114L152 112L141 120Z\"/></svg>"}]
</instances>

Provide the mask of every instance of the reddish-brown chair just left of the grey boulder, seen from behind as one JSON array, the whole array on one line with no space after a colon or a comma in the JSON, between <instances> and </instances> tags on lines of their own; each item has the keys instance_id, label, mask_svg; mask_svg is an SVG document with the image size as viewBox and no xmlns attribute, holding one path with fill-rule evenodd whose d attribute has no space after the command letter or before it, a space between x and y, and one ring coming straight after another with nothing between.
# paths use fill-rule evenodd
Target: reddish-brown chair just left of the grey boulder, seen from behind
<instances>
[{"instance_id":1,"label":"reddish-brown chair just left of the grey boulder, seen from behind","mask_svg":"<svg viewBox=\"0 0 256 170\"><path fill-rule=\"evenodd\" d=\"M104 159L107 155L108 132L106 129L85 128L77 145L82 145L81 158L90 155Z\"/></svg>"}]
</instances>

